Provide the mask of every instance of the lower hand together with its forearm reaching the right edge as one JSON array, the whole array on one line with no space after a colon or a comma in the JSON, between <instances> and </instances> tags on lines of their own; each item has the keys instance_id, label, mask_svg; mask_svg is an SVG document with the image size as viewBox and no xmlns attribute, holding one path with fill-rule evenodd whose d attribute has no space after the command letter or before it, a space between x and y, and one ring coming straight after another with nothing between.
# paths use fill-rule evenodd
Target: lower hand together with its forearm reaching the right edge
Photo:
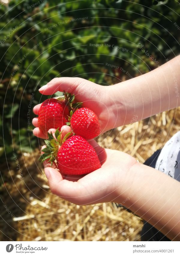
<instances>
[{"instance_id":1,"label":"lower hand together with its forearm reaching the right edge","mask_svg":"<svg viewBox=\"0 0 180 256\"><path fill-rule=\"evenodd\" d=\"M44 162L52 193L79 205L110 201L122 204L179 241L179 182L126 153L103 149L94 140L90 143L102 166L84 177L64 177L55 163L50 167Z\"/></svg>"}]
</instances>

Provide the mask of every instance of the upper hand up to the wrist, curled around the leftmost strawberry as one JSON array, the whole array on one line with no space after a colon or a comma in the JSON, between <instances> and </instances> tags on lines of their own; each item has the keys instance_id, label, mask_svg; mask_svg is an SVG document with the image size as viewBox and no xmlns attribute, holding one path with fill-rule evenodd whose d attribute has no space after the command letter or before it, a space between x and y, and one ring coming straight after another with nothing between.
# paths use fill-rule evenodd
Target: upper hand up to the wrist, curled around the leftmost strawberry
<instances>
[{"instance_id":1,"label":"upper hand up to the wrist, curled around the leftmost strawberry","mask_svg":"<svg viewBox=\"0 0 180 256\"><path fill-rule=\"evenodd\" d=\"M57 91L67 91L75 94L77 102L83 102L82 106L95 112L98 116L101 133L115 127L117 120L116 103L111 97L111 90L108 86L101 86L79 77L59 77L52 79L47 85L39 89L44 95L52 95ZM41 104L34 107L33 111L38 115ZM38 118L32 121L36 127L33 134L40 138L46 138L46 135L38 128ZM55 131L51 129L52 133Z\"/></svg>"}]
</instances>

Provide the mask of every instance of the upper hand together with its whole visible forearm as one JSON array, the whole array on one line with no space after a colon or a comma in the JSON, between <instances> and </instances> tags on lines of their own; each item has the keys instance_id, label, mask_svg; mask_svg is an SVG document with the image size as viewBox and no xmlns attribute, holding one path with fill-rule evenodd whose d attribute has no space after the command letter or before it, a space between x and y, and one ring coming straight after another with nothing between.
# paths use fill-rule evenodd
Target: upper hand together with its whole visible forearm
<instances>
[{"instance_id":1,"label":"upper hand together with its whole visible forearm","mask_svg":"<svg viewBox=\"0 0 180 256\"><path fill-rule=\"evenodd\" d=\"M180 80L179 63L180 55L147 74L113 86L101 86L79 77L54 78L39 91L44 95L57 91L74 93L76 100L83 102L83 107L98 116L103 133L179 106L180 97L178 89L174 89L172 76L173 70L176 80ZM34 107L36 115L40 106ZM36 127L34 135L46 138L38 128L38 118L33 119L33 125Z\"/></svg>"}]
</instances>

